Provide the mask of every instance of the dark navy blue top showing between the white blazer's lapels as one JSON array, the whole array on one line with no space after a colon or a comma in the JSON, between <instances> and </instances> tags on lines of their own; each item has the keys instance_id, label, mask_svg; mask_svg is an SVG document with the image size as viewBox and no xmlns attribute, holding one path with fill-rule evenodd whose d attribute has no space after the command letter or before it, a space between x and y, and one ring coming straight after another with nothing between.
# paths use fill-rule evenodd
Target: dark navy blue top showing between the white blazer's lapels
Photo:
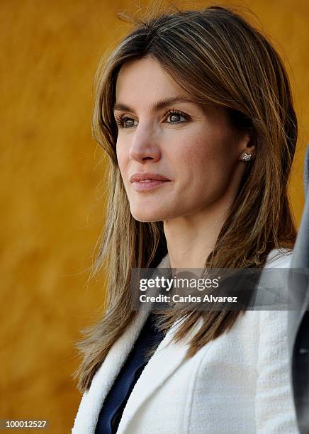
<instances>
[{"instance_id":1,"label":"dark navy blue top showing between the white blazer's lapels","mask_svg":"<svg viewBox=\"0 0 309 434\"><path fill-rule=\"evenodd\" d=\"M96 434L116 433L125 404L149 360L145 352L150 347L158 345L164 338L164 334L155 327L154 319L154 313L150 312L125 364L108 392L96 425Z\"/></svg>"}]
</instances>

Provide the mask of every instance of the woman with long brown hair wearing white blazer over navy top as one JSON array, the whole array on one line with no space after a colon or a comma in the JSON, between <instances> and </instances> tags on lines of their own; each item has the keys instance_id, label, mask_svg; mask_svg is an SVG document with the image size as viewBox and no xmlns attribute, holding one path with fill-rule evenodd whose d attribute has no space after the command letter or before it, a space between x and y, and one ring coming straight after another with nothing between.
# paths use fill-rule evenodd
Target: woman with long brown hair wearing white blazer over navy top
<instances>
[{"instance_id":1,"label":"woman with long brown hair wearing white blazer over navy top","mask_svg":"<svg viewBox=\"0 0 309 434\"><path fill-rule=\"evenodd\" d=\"M297 121L279 55L223 7L139 23L96 74L107 312L76 433L297 433L286 311L134 311L133 268L288 267ZM137 291L137 289L136 289ZM159 346L157 346L159 344Z\"/></svg>"}]
</instances>

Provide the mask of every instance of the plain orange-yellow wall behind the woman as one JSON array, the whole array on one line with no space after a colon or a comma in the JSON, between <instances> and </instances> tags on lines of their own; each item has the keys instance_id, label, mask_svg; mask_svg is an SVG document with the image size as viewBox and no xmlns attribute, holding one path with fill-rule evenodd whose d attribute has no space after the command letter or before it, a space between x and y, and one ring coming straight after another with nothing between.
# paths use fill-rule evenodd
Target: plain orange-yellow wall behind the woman
<instances>
[{"instance_id":1,"label":"plain orange-yellow wall behind the woman","mask_svg":"<svg viewBox=\"0 0 309 434\"><path fill-rule=\"evenodd\" d=\"M300 139L290 193L299 223L309 141L308 2L237 4L257 14L291 77ZM47 419L52 433L69 433L74 421L73 343L103 302L103 277L87 284L104 206L102 151L90 130L93 77L101 54L126 31L116 12L137 9L130 0L0 4L0 418Z\"/></svg>"}]
</instances>

